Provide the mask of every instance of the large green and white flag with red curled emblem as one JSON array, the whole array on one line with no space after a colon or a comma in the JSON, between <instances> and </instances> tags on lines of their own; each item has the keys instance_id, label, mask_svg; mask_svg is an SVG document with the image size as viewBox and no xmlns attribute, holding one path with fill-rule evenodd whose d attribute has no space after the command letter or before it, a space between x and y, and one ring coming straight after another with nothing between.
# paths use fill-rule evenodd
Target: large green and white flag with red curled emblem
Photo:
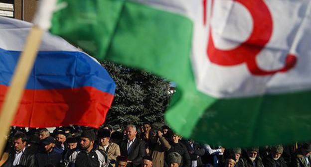
<instances>
[{"instance_id":1,"label":"large green and white flag with red curled emblem","mask_svg":"<svg viewBox=\"0 0 311 167\"><path fill-rule=\"evenodd\" d=\"M310 140L310 0L58 0L51 32L177 83L180 135L222 146Z\"/></svg>"}]
</instances>

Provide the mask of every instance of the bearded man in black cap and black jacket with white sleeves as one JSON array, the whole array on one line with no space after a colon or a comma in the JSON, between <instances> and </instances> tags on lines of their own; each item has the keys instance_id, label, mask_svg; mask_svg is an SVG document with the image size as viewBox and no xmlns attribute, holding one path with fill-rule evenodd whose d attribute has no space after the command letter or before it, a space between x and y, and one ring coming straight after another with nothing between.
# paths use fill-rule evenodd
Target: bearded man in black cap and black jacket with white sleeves
<instances>
[{"instance_id":1,"label":"bearded man in black cap and black jacket with white sleeves","mask_svg":"<svg viewBox=\"0 0 311 167\"><path fill-rule=\"evenodd\" d=\"M81 150L70 150L69 157L64 160L66 167L109 167L108 156L94 147L96 139L93 130L86 130L81 135Z\"/></svg>"}]
</instances>

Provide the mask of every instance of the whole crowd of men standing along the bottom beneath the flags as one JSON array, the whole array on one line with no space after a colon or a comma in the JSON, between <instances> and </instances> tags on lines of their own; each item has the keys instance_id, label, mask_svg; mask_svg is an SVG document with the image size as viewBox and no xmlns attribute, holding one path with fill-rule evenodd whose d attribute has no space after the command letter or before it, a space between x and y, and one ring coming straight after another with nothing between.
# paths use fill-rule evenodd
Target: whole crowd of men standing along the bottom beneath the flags
<instances>
[{"instance_id":1,"label":"whole crowd of men standing along the bottom beneath the flags","mask_svg":"<svg viewBox=\"0 0 311 167\"><path fill-rule=\"evenodd\" d=\"M138 133L140 131L140 133ZM145 122L114 131L72 126L11 130L1 167L311 167L311 144L213 147Z\"/></svg>"}]
</instances>

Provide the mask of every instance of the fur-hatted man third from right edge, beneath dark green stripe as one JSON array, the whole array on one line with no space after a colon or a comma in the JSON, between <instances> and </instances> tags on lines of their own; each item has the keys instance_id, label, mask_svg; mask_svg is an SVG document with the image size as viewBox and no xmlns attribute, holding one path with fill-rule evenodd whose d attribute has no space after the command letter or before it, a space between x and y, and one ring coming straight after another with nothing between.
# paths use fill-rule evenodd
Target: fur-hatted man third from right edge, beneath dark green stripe
<instances>
[{"instance_id":1,"label":"fur-hatted man third from right edge, beneath dark green stripe","mask_svg":"<svg viewBox=\"0 0 311 167\"><path fill-rule=\"evenodd\" d=\"M245 167L263 167L261 158L258 156L259 148L247 150L247 158L244 158Z\"/></svg>"}]
</instances>

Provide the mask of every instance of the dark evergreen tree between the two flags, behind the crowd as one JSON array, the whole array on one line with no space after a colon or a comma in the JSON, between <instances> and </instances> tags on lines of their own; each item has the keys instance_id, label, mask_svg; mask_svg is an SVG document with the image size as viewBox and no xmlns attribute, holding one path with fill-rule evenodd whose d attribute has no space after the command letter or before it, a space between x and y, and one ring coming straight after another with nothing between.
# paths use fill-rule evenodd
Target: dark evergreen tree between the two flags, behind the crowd
<instances>
[{"instance_id":1,"label":"dark evergreen tree between the two flags, behind the crowd","mask_svg":"<svg viewBox=\"0 0 311 167\"><path fill-rule=\"evenodd\" d=\"M148 72L102 62L117 88L106 122L124 128L128 124L142 125L149 121L163 125L163 113L171 94L169 81Z\"/></svg>"}]
</instances>

